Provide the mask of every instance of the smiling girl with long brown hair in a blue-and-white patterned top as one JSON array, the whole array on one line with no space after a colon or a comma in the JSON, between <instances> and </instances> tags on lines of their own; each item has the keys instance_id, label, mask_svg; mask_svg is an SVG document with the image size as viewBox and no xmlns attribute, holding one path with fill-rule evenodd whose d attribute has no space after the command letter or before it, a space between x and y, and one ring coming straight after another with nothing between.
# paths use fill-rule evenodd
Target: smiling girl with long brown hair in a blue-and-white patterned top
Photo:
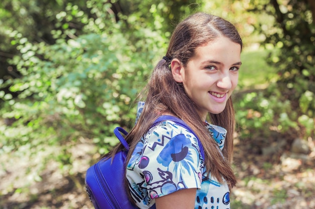
<instances>
[{"instance_id":1,"label":"smiling girl with long brown hair in a blue-and-white patterned top","mask_svg":"<svg viewBox=\"0 0 315 209\"><path fill-rule=\"evenodd\" d=\"M176 27L141 94L142 113L126 137L128 191L139 208L229 208L229 191L237 181L230 165L231 94L242 46L237 29L216 16L197 13ZM192 132L172 119L152 126L166 115L193 130L204 157Z\"/></svg>"}]
</instances>

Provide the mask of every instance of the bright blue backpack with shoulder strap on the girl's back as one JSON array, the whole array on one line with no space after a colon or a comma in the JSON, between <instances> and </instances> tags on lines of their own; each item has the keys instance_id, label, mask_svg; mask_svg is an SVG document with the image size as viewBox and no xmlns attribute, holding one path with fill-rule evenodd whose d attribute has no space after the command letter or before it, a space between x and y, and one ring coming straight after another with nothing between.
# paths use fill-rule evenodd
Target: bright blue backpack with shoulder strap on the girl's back
<instances>
[{"instance_id":1,"label":"bright blue backpack with shoulder strap on the girl's back","mask_svg":"<svg viewBox=\"0 0 315 209\"><path fill-rule=\"evenodd\" d=\"M151 127L166 120L173 121L178 125L186 128L198 139L193 130L184 121L174 116L160 116L154 121ZM127 135L128 133L121 127L115 128L114 133L125 147L125 150L117 152L114 156L114 159L101 159L87 170L85 178L86 190L95 209L138 208L137 206L133 205L128 199L128 194L124 185L126 177L126 156L129 150L129 145L122 134ZM204 158L204 150L199 139L198 144L201 155ZM155 204L151 208L155 208Z\"/></svg>"}]
</instances>

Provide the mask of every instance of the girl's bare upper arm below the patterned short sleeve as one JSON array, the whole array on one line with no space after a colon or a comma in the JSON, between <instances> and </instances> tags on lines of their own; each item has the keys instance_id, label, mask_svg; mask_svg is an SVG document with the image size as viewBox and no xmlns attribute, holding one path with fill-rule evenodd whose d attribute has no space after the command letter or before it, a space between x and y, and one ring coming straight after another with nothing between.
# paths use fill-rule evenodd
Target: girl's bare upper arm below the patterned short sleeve
<instances>
[{"instance_id":1,"label":"girl's bare upper arm below the patterned short sleeve","mask_svg":"<svg viewBox=\"0 0 315 209\"><path fill-rule=\"evenodd\" d=\"M193 209L196 192L196 188L188 188L158 197L155 199L156 209Z\"/></svg>"}]
</instances>

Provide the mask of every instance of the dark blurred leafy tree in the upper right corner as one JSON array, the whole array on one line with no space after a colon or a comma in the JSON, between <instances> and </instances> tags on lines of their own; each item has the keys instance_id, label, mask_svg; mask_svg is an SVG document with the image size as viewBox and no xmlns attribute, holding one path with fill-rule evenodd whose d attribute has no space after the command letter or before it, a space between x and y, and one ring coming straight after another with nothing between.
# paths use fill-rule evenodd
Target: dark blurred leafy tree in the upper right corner
<instances>
[{"instance_id":1,"label":"dark blurred leafy tree in the upper right corner","mask_svg":"<svg viewBox=\"0 0 315 209\"><path fill-rule=\"evenodd\" d=\"M289 118L298 121L300 126L309 124L315 116L314 5L312 0L254 0L250 9L261 13L265 19L256 22L255 27L265 36L264 46L273 49L268 63L278 70L280 76L276 85L277 97L279 101L290 101L292 112L288 113ZM269 91L268 94L275 92Z\"/></svg>"}]
</instances>

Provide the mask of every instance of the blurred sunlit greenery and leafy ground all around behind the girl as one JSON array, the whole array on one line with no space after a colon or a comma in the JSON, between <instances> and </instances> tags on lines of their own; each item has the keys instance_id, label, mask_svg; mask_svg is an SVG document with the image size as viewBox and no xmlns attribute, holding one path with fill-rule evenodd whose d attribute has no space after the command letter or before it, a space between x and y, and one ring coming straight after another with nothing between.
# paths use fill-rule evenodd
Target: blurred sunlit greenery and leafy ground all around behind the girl
<instances>
[{"instance_id":1,"label":"blurred sunlit greenery and leafy ground all around behind the girl","mask_svg":"<svg viewBox=\"0 0 315 209\"><path fill-rule=\"evenodd\" d=\"M313 0L2 0L0 208L93 208L84 177L134 124L177 23L244 41L231 208L315 208Z\"/></svg>"}]
</instances>

